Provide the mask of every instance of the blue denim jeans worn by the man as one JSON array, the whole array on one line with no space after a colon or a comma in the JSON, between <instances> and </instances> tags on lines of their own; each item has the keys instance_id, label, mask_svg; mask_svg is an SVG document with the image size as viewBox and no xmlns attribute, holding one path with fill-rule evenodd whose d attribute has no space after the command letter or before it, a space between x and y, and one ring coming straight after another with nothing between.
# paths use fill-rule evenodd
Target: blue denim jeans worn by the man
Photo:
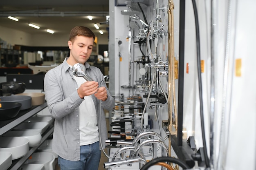
<instances>
[{"instance_id":1,"label":"blue denim jeans worn by the man","mask_svg":"<svg viewBox=\"0 0 256 170\"><path fill-rule=\"evenodd\" d=\"M99 141L94 144L80 146L80 161L69 161L58 156L61 170L98 170L101 151Z\"/></svg>"}]
</instances>

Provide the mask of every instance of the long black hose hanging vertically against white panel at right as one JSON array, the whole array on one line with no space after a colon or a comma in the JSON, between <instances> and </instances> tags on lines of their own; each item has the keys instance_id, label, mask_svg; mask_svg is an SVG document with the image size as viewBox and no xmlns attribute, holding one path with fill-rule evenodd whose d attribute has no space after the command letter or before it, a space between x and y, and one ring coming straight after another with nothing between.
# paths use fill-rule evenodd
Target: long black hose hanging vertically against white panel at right
<instances>
[{"instance_id":1,"label":"long black hose hanging vertically against white panel at right","mask_svg":"<svg viewBox=\"0 0 256 170\"><path fill-rule=\"evenodd\" d=\"M198 11L195 4L195 0L192 0L193 9L195 14L195 32L196 32L196 53L197 53L197 68L198 68L198 86L199 86L199 100L200 100L200 118L201 118L201 128L202 128L202 141L203 141L203 150L205 165L207 168L210 168L209 158L207 154L206 147L206 137L204 130L204 110L203 110L203 97L202 97L202 77L201 77L201 57L200 57L200 36L199 36L199 23L198 23Z\"/></svg>"}]
</instances>

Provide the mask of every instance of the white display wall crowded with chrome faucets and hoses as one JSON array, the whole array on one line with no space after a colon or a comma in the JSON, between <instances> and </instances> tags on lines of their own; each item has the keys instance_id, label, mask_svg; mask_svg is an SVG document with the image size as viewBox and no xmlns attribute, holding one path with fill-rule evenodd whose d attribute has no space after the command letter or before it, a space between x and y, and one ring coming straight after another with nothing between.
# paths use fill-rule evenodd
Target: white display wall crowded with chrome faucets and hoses
<instances>
[{"instance_id":1,"label":"white display wall crowded with chrome faucets and hoses","mask_svg":"<svg viewBox=\"0 0 256 170\"><path fill-rule=\"evenodd\" d=\"M122 126L111 126L111 136L117 131L112 136L117 140L112 138L106 143L118 150L106 167L129 167L135 162L146 166L146 159L164 157L167 148L168 157L179 159L185 168L244 169L243 164L255 169L255 149L245 146L243 138L249 138L247 142L256 148L256 135L249 133L249 129L256 128L251 120L256 119L256 101L255 97L237 92L243 89L248 96L255 96L256 90L251 85L255 86L256 81L249 75L255 73L251 62L256 59L250 57L253 51L248 48L242 55L237 44L250 47L253 44L252 26L242 16L246 17L243 14L246 8L251 9L256 2L144 0L126 3L126 7L115 6L112 10L115 22L112 22L114 34L110 44L114 46L114 62L121 76L117 78L117 67L110 67L110 82L111 77L115 77L110 91L117 96L112 112L115 118L110 120L113 124L122 119L134 123L126 121ZM244 33L243 29L248 32ZM244 40L244 44L237 38ZM122 42L121 61L117 60L119 41ZM243 74L239 70L243 70ZM248 88L245 90L245 87ZM239 100L241 97L243 101ZM149 126L144 122L145 113L150 117ZM247 129L232 129L240 119L249 122L243 125ZM237 130L243 138L237 137ZM152 134L138 138L147 132L161 139ZM150 154L144 154L139 149L144 145L137 141L146 144ZM238 142L243 149L235 149L236 142L230 141ZM234 154L234 150L240 154ZM247 154L249 160L239 156ZM173 169L181 165L178 161L173 163L177 163L171 163Z\"/></svg>"}]
</instances>

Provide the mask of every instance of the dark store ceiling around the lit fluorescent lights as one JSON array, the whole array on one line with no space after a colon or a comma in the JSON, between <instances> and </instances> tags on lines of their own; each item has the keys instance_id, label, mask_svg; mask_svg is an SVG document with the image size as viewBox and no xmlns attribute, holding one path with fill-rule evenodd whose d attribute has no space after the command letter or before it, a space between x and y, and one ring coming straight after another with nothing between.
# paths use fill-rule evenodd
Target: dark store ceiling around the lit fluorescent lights
<instances>
[{"instance_id":1,"label":"dark store ceiling around the lit fluorescent lights","mask_svg":"<svg viewBox=\"0 0 256 170\"><path fill-rule=\"evenodd\" d=\"M26 33L47 33L52 29L55 33L69 33L74 26L87 26L94 33L97 23L107 34L106 15L109 13L108 0L0 0L0 26L16 29ZM19 19L18 22L8 16ZM92 15L93 20L88 20ZM35 29L28 23L40 26ZM100 24L101 23L101 24Z\"/></svg>"}]
</instances>

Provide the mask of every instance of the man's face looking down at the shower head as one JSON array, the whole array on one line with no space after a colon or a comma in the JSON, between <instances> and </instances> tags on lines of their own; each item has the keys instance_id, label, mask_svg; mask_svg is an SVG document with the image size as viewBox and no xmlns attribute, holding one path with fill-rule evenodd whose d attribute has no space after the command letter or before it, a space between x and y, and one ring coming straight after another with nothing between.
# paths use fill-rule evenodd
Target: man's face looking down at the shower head
<instances>
[{"instance_id":1,"label":"man's face looking down at the shower head","mask_svg":"<svg viewBox=\"0 0 256 170\"><path fill-rule=\"evenodd\" d=\"M90 57L93 47L93 38L85 36L76 36L74 42L68 41L70 49L69 64L84 64Z\"/></svg>"}]
</instances>

